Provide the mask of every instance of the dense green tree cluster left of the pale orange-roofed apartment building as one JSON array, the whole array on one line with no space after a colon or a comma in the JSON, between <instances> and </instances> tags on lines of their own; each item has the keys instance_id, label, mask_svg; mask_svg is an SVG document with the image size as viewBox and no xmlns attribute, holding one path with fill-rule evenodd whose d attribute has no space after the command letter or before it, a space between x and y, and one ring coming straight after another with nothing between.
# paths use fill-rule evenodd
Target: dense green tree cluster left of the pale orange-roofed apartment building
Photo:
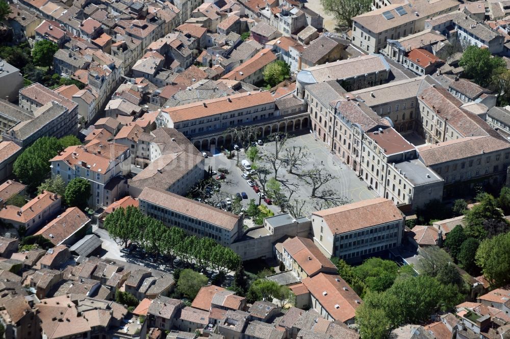
<instances>
[{"instance_id":1,"label":"dense green tree cluster left of the pale orange-roofed apartment building","mask_svg":"<svg viewBox=\"0 0 510 339\"><path fill-rule=\"evenodd\" d=\"M19 181L29 185L31 191L35 191L48 178L49 160L66 147L80 144L80 140L74 135L64 136L60 139L43 136L16 158L12 172Z\"/></svg>"}]
</instances>

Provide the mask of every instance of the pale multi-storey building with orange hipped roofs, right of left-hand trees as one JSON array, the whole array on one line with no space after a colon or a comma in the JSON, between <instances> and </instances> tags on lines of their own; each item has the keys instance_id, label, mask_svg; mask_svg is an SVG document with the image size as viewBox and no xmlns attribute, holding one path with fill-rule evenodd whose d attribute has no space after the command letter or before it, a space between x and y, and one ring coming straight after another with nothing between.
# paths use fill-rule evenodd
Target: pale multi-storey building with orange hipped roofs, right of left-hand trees
<instances>
[{"instance_id":1,"label":"pale multi-storey building with orange hipped roofs, right of left-hand trees","mask_svg":"<svg viewBox=\"0 0 510 339\"><path fill-rule=\"evenodd\" d=\"M89 206L97 209L125 195L126 180L123 185L118 180L130 173L130 157L127 146L93 140L85 146L70 146L50 159L52 177L60 175L66 184L74 178L88 180ZM115 187L110 187L109 183L115 183Z\"/></svg>"}]
</instances>

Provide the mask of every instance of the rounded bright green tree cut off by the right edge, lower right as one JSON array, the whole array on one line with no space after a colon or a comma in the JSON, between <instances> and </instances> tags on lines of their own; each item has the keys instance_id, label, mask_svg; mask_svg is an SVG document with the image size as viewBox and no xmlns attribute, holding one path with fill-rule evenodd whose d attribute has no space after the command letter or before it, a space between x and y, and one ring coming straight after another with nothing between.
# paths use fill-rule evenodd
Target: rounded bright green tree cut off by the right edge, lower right
<instances>
[{"instance_id":1,"label":"rounded bright green tree cut off by the right edge, lower right","mask_svg":"<svg viewBox=\"0 0 510 339\"><path fill-rule=\"evenodd\" d=\"M484 239L476 251L476 265L493 288L510 283L510 233Z\"/></svg>"}]
</instances>

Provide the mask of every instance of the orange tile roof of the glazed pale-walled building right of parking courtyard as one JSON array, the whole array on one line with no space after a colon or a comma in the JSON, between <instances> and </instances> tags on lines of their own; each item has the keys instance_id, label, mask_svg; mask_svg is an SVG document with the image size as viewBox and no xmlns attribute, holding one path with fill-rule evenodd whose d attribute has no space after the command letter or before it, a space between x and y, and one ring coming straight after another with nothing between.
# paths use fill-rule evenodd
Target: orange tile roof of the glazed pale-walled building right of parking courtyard
<instances>
[{"instance_id":1,"label":"orange tile roof of the glazed pale-walled building right of parking courtyard","mask_svg":"<svg viewBox=\"0 0 510 339\"><path fill-rule=\"evenodd\" d=\"M324 218L331 233L345 233L381 223L402 220L400 210L391 200L375 198L314 212Z\"/></svg>"}]
</instances>

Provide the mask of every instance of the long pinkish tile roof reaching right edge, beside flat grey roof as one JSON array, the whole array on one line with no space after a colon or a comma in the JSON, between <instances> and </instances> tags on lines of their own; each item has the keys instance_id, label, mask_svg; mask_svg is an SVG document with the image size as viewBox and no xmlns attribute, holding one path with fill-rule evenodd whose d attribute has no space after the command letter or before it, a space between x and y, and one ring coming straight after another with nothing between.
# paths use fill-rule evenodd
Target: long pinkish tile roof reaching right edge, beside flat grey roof
<instances>
[{"instance_id":1,"label":"long pinkish tile roof reaching right edge, beside flat grey roof","mask_svg":"<svg viewBox=\"0 0 510 339\"><path fill-rule=\"evenodd\" d=\"M418 148L420 158L426 166L452 160L474 157L483 153L507 150L510 143L493 136L471 136Z\"/></svg>"}]
</instances>

